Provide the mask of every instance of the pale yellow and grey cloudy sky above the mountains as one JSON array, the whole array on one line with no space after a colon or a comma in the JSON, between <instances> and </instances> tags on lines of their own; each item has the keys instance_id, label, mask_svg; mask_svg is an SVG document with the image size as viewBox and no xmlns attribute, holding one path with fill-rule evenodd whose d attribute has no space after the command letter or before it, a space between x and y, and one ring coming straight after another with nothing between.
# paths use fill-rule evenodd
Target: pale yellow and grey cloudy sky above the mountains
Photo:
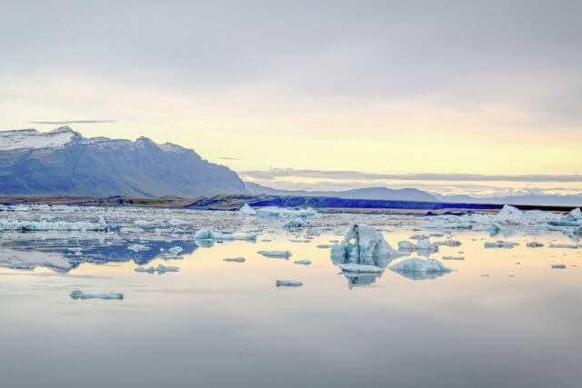
<instances>
[{"instance_id":1,"label":"pale yellow and grey cloudy sky above the mountains","mask_svg":"<svg viewBox=\"0 0 582 388\"><path fill-rule=\"evenodd\" d=\"M580 1L2 3L0 130L277 188L582 193Z\"/></svg>"}]
</instances>

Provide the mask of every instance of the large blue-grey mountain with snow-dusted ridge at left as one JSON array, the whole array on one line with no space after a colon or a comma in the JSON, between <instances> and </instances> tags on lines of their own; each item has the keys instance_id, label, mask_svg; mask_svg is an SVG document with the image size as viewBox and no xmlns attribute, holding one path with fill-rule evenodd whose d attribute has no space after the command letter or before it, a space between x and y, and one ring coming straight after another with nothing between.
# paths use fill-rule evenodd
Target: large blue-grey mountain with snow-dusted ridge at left
<instances>
[{"instance_id":1,"label":"large blue-grey mountain with snow-dusted ridge at left","mask_svg":"<svg viewBox=\"0 0 582 388\"><path fill-rule=\"evenodd\" d=\"M68 126L48 133L0 131L0 194L176 195L247 193L227 167L176 144L85 138Z\"/></svg>"}]
</instances>

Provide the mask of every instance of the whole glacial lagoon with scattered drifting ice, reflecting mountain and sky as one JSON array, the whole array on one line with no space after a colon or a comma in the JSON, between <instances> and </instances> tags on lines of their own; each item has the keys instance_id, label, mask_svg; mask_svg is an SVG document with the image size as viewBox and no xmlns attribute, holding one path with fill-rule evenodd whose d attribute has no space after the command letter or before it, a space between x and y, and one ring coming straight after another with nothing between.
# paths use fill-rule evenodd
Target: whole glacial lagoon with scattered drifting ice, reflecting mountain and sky
<instances>
[{"instance_id":1,"label":"whole glacial lagoon with scattered drifting ice, reflecting mountain and sky","mask_svg":"<svg viewBox=\"0 0 582 388\"><path fill-rule=\"evenodd\" d=\"M0 386L578 387L577 221L451 217L4 206ZM350 224L460 244L346 273ZM450 272L391 270L414 257Z\"/></svg>"}]
</instances>

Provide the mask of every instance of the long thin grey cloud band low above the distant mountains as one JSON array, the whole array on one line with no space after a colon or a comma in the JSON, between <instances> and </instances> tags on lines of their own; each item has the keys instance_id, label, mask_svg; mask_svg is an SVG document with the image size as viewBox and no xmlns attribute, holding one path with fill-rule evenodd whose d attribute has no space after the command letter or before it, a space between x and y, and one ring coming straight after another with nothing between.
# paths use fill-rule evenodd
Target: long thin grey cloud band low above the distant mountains
<instances>
[{"instance_id":1,"label":"long thin grey cloud band low above the distant mountains","mask_svg":"<svg viewBox=\"0 0 582 388\"><path fill-rule=\"evenodd\" d=\"M292 168L270 170L247 170L241 171L246 177L273 181L278 178L319 178L331 180L351 180L351 181L460 181L460 182L582 182L582 174L527 174L527 175L504 175L504 174L374 174L360 171L324 171L324 170L296 170Z\"/></svg>"}]
</instances>

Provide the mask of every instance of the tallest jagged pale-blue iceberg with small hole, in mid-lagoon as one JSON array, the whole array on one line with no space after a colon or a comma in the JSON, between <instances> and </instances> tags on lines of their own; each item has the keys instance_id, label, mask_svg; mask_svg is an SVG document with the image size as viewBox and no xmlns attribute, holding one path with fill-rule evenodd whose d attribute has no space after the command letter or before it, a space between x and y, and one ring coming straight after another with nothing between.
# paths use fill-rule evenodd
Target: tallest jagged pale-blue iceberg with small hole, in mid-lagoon
<instances>
[{"instance_id":1,"label":"tallest jagged pale-blue iceberg with small hole, in mid-lagoon","mask_svg":"<svg viewBox=\"0 0 582 388\"><path fill-rule=\"evenodd\" d=\"M364 224L350 224L344 240L331 247L336 264L366 264L384 268L402 254L386 243L376 229Z\"/></svg>"}]
</instances>

